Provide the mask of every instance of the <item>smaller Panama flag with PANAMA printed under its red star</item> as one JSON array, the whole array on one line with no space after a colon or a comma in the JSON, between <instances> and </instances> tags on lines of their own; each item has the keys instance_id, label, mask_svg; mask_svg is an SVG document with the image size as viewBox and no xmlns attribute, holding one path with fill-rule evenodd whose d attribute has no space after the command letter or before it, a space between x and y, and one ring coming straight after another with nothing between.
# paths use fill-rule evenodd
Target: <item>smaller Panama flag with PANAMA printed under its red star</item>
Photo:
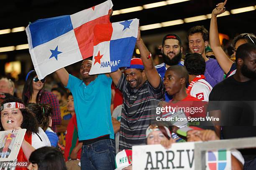
<instances>
[{"instance_id":1,"label":"smaller Panama flag with PANAMA printed under its red star","mask_svg":"<svg viewBox=\"0 0 256 170\"><path fill-rule=\"evenodd\" d=\"M138 35L138 23L138 19L133 19L95 25L90 75L130 66Z\"/></svg>"}]
</instances>

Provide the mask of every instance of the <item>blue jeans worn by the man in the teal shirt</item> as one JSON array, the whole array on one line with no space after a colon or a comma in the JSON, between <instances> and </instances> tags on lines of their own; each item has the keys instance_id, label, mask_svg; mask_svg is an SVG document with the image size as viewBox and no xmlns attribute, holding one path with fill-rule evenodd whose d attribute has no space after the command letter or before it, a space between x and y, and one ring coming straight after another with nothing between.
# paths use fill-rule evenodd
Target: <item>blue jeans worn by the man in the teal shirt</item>
<instances>
[{"instance_id":1,"label":"blue jeans worn by the man in the teal shirt","mask_svg":"<svg viewBox=\"0 0 256 170\"><path fill-rule=\"evenodd\" d=\"M115 141L104 139L83 145L81 170L115 170Z\"/></svg>"}]
</instances>

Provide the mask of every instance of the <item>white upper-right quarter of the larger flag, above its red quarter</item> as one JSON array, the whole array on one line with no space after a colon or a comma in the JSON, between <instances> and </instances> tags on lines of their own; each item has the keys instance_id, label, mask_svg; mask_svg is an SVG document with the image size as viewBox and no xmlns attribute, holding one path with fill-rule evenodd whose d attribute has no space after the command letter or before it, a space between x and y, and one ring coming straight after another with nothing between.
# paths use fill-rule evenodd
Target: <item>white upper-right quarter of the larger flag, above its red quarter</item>
<instances>
[{"instance_id":1,"label":"white upper-right quarter of the larger flag, above its red quarter","mask_svg":"<svg viewBox=\"0 0 256 170\"><path fill-rule=\"evenodd\" d=\"M108 15L108 10L110 10L112 7L112 1L108 0L101 3L100 5L96 5L94 10L90 7L86 10L82 10L78 13L70 15L73 28L75 29L84 23L95 20L96 18L102 17L104 15Z\"/></svg>"}]
</instances>

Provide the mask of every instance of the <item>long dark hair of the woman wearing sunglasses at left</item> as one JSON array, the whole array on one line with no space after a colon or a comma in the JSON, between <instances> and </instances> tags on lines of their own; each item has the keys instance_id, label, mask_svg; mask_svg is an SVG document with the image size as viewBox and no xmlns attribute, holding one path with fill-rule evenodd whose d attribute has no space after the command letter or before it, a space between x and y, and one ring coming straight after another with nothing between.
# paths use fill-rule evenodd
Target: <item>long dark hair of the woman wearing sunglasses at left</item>
<instances>
[{"instance_id":1,"label":"long dark hair of the woman wearing sunglasses at left","mask_svg":"<svg viewBox=\"0 0 256 170\"><path fill-rule=\"evenodd\" d=\"M23 87L23 92L22 92L22 100L24 103L28 103L28 96L26 96L26 93L29 92L30 96L33 94L33 78L36 76L36 71L33 70L30 72L29 75L27 75L27 80L25 81L24 87ZM44 87L41 89L44 90ZM36 102L38 103L38 96L39 93L36 96Z\"/></svg>"}]
</instances>

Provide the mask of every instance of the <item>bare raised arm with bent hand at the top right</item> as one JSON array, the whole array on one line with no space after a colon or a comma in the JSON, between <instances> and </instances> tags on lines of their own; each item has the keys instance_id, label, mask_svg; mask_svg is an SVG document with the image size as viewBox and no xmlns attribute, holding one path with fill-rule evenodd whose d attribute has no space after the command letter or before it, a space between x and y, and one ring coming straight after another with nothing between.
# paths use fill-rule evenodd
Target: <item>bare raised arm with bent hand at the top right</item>
<instances>
[{"instance_id":1,"label":"bare raised arm with bent hand at the top right","mask_svg":"<svg viewBox=\"0 0 256 170\"><path fill-rule=\"evenodd\" d=\"M218 63L220 64L220 67L224 70L225 73L228 73L231 65L233 64L233 61L229 59L220 45L217 25L217 15L225 12L226 2L227 0L225 0L224 3L219 3L217 7L212 10L212 19L210 23L210 45Z\"/></svg>"}]
</instances>

